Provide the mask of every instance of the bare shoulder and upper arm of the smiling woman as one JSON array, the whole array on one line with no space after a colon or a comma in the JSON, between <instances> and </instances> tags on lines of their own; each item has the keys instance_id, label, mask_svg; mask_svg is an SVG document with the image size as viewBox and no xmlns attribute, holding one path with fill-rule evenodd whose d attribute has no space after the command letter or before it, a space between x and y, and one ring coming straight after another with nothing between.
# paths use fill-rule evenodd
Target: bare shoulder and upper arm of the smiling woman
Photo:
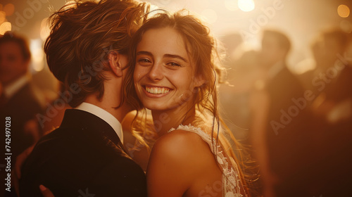
<instances>
[{"instance_id":1,"label":"bare shoulder and upper arm of the smiling woman","mask_svg":"<svg viewBox=\"0 0 352 197\"><path fill-rule=\"evenodd\" d=\"M170 192L168 196L174 193L182 196L186 191L199 193L199 187L203 189L204 182L207 184L214 180L216 169L218 165L214 155L198 134L182 129L173 130L161 136L151 151L146 173L149 191L155 194L160 187L165 187L168 188L165 192ZM158 189L153 188L156 185Z\"/></svg>"}]
</instances>

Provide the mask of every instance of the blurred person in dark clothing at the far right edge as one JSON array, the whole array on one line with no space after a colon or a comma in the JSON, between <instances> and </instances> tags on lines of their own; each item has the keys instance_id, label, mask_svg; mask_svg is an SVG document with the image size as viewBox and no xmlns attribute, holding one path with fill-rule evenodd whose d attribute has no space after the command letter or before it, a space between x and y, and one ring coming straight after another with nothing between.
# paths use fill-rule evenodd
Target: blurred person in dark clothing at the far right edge
<instances>
[{"instance_id":1,"label":"blurred person in dark clothing at the far right edge","mask_svg":"<svg viewBox=\"0 0 352 197\"><path fill-rule=\"evenodd\" d=\"M315 94L315 191L322 196L351 196L352 68L351 35L334 28L313 44L315 69L301 76Z\"/></svg>"}]
</instances>

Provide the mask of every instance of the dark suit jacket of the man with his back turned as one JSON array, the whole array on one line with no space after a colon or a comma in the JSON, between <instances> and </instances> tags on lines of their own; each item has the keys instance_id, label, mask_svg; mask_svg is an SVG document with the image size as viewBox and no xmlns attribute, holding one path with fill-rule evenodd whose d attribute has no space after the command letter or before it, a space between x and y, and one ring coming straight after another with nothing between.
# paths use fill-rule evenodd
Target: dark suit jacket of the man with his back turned
<instances>
[{"instance_id":1,"label":"dark suit jacket of the man with his back turned","mask_svg":"<svg viewBox=\"0 0 352 197\"><path fill-rule=\"evenodd\" d=\"M146 196L146 178L113 128L82 110L66 110L61 126L44 136L22 168L20 196ZM89 194L88 194L89 193Z\"/></svg>"}]
</instances>

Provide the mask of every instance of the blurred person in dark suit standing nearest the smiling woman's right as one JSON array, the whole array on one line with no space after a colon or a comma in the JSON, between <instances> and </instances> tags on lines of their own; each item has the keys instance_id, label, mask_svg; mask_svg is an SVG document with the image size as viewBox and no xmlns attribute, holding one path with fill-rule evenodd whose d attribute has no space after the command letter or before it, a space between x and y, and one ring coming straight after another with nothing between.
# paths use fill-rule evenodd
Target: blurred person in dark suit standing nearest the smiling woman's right
<instances>
[{"instance_id":1,"label":"blurred person in dark suit standing nearest the smiling woman's right","mask_svg":"<svg viewBox=\"0 0 352 197\"><path fill-rule=\"evenodd\" d=\"M303 87L287 68L291 42L277 30L263 32L260 65L265 75L251 93L251 141L264 196L305 196L309 124ZM304 178L303 178L304 177ZM307 177L307 178L305 178Z\"/></svg>"}]
</instances>

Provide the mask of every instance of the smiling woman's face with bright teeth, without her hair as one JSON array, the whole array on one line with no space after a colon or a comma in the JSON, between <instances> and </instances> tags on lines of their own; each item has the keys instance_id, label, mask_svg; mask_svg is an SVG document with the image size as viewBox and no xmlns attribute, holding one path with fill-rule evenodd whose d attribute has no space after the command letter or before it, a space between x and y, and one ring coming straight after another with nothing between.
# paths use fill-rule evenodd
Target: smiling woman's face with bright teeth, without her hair
<instances>
[{"instance_id":1,"label":"smiling woman's face with bright teeth, without her hair","mask_svg":"<svg viewBox=\"0 0 352 197\"><path fill-rule=\"evenodd\" d=\"M146 108L178 108L202 84L194 77L195 66L188 59L182 36L170 27L146 31L136 54L134 82Z\"/></svg>"}]
</instances>

